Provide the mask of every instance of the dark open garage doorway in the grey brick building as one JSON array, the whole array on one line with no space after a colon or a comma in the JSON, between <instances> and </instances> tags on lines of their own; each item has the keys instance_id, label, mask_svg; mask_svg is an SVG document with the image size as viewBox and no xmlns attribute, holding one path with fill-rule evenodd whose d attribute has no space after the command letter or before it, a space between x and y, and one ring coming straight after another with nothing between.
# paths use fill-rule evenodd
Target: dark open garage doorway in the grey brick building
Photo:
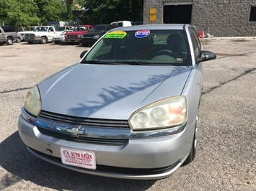
<instances>
[{"instance_id":1,"label":"dark open garage doorway in the grey brick building","mask_svg":"<svg viewBox=\"0 0 256 191\"><path fill-rule=\"evenodd\" d=\"M165 24L191 24L192 4L186 5L165 5Z\"/></svg>"}]
</instances>

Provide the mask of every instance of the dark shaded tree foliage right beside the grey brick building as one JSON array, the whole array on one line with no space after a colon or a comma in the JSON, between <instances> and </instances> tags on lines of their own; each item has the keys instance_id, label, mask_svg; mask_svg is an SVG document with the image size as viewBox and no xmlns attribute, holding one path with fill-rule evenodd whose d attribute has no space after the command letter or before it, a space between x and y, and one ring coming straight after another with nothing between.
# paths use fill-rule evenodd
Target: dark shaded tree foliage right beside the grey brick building
<instances>
[{"instance_id":1,"label":"dark shaded tree foliage right beside the grey brick building","mask_svg":"<svg viewBox=\"0 0 256 191\"><path fill-rule=\"evenodd\" d=\"M76 0L85 10L89 23L110 23L113 21L142 21L144 0Z\"/></svg>"}]
</instances>

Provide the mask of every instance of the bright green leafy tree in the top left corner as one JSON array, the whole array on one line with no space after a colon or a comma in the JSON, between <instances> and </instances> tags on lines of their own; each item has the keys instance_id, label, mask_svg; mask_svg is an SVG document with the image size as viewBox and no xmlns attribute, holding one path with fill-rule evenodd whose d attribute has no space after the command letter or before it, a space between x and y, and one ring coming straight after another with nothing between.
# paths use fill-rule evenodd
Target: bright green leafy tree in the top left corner
<instances>
[{"instance_id":1,"label":"bright green leafy tree in the top left corner","mask_svg":"<svg viewBox=\"0 0 256 191\"><path fill-rule=\"evenodd\" d=\"M1 0L0 22L15 27L29 27L40 23L37 4L31 0Z\"/></svg>"}]
</instances>

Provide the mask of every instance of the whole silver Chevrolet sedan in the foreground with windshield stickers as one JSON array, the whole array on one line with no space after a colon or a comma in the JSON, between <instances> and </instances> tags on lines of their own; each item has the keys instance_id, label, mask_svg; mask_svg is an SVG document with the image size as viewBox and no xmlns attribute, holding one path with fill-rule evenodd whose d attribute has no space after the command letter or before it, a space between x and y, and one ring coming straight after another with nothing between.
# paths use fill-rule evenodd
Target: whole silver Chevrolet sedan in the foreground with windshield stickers
<instances>
[{"instance_id":1,"label":"whole silver Chevrolet sedan in the foreground with windshield stickers","mask_svg":"<svg viewBox=\"0 0 256 191\"><path fill-rule=\"evenodd\" d=\"M168 177L193 161L202 63L216 55L202 50L192 26L118 27L80 57L26 95L18 129L32 154L139 180Z\"/></svg>"}]
</instances>

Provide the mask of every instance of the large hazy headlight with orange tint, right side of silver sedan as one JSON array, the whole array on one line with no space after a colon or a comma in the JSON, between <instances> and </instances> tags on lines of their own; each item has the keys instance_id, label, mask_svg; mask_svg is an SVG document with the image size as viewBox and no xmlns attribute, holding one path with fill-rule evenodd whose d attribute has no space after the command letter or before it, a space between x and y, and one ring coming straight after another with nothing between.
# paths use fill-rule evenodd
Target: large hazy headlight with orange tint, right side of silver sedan
<instances>
[{"instance_id":1,"label":"large hazy headlight with orange tint, right side of silver sedan","mask_svg":"<svg viewBox=\"0 0 256 191\"><path fill-rule=\"evenodd\" d=\"M167 98L135 111L129 118L133 130L165 129L180 126L187 121L185 95Z\"/></svg>"}]
</instances>

